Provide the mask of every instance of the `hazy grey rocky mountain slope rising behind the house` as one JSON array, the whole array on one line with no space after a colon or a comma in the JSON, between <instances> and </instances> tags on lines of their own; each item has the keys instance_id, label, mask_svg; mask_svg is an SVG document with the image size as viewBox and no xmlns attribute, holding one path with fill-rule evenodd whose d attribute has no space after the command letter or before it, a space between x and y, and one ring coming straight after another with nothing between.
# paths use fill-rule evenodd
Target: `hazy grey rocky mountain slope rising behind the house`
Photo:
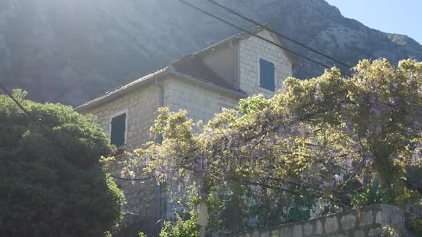
<instances>
[{"instance_id":1,"label":"hazy grey rocky mountain slope rising behind the house","mask_svg":"<svg viewBox=\"0 0 422 237\"><path fill-rule=\"evenodd\" d=\"M191 2L252 27L205 0ZM410 37L368 28L323 0L220 2L348 64L362 58L422 60L421 44ZM176 0L1 0L0 80L26 89L33 100L79 105L237 32ZM323 71L301 63L298 78Z\"/></svg>"}]
</instances>

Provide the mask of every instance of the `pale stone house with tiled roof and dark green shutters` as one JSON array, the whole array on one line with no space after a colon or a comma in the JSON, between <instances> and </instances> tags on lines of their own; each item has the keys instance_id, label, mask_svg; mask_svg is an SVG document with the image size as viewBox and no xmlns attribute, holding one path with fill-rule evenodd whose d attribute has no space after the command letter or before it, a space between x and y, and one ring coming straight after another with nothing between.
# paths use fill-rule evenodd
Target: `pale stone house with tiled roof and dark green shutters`
<instances>
[{"instance_id":1,"label":"pale stone house with tiled roof and dark green shutters","mask_svg":"<svg viewBox=\"0 0 422 237\"><path fill-rule=\"evenodd\" d=\"M269 30L258 26L251 31L282 44ZM149 139L158 107L187 109L194 121L206 123L223 107L236 107L240 98L253 94L272 97L297 64L287 51L239 33L108 91L76 111L94 114L111 143L132 151ZM118 168L115 174L119 175ZM165 188L152 179L141 184L116 182L126 195L124 210L135 214L136 220L128 222L139 222L143 229L149 229L156 220L171 216L174 207L165 198Z\"/></svg>"}]
</instances>

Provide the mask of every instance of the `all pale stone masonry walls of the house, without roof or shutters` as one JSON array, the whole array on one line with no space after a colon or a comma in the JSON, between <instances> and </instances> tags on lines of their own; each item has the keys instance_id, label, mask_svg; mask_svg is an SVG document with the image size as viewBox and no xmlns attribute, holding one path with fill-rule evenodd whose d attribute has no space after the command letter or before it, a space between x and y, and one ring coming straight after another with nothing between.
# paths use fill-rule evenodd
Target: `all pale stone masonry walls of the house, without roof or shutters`
<instances>
[{"instance_id":1,"label":"all pale stone masonry walls of the house, without roof or shutters","mask_svg":"<svg viewBox=\"0 0 422 237\"><path fill-rule=\"evenodd\" d=\"M259 34L274 40L266 30ZM292 75L292 67L286 55L276 46L255 37L249 37L239 43L239 88L248 95L262 93L271 97L274 94L273 91L259 87L259 57L275 63L276 90L280 89L285 78ZM201 120L204 124L212 119L214 114L221 112L223 107L237 107L239 101L239 98L230 96L218 89L204 87L180 78L161 79L164 87L164 107L170 107L173 111L187 109L190 118L194 121ZM90 109L86 113L94 114L96 122L99 123L104 132L110 134L112 114L127 109L127 139L126 144L121 148L131 152L149 139L149 128L153 125L158 107L159 89L155 85L149 85L112 100L105 105ZM121 156L118 159L124 161L126 157ZM123 166L117 162L112 168L112 174L120 176ZM145 182L128 182L119 179L115 181L124 191L127 202L124 211L132 213L126 216L126 222L143 225L142 229L147 231L149 226L153 226L157 216L157 183L153 179ZM174 185L167 184L167 188L171 186ZM163 193L163 196L165 196L165 193ZM176 206L167 200L167 204L162 207L162 211L166 211L164 216L167 218L173 216L173 210L178 208Z\"/></svg>"}]
</instances>

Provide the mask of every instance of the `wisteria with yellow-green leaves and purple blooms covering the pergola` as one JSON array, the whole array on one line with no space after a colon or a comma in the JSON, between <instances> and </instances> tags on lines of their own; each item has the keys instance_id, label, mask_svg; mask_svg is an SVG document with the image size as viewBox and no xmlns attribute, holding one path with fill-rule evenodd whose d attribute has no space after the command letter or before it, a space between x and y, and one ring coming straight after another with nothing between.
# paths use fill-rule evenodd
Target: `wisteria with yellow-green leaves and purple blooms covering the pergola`
<instances>
[{"instance_id":1,"label":"wisteria with yellow-green leaves and purple blooms covering the pergola","mask_svg":"<svg viewBox=\"0 0 422 237\"><path fill-rule=\"evenodd\" d=\"M244 216L231 218L246 220L234 230L301 220L317 200L321 214L374 202L421 208L407 173L421 170L421 62L362 60L351 78L335 68L287 78L273 98L242 100L199 134L194 125L185 111L160 109L151 132L162 144L147 143L133 161L149 161L161 181L194 180L210 207L234 201ZM219 210L210 217L225 218Z\"/></svg>"}]
</instances>

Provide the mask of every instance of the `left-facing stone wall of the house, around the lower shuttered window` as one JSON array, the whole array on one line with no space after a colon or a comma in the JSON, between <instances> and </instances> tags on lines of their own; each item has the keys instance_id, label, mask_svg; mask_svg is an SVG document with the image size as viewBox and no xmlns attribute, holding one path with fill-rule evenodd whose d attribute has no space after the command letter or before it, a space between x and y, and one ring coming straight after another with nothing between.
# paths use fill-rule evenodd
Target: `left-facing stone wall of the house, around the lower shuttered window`
<instances>
[{"instance_id":1,"label":"left-facing stone wall of the house, around the lower shuttered window","mask_svg":"<svg viewBox=\"0 0 422 237\"><path fill-rule=\"evenodd\" d=\"M94 114L96 122L104 132L110 134L112 114L127 109L127 139L126 145L121 146L121 149L131 152L149 139L149 128L153 125L159 107L158 96L158 87L149 85L112 100L110 103L95 107L87 113ZM121 168L124 167L121 161L125 161L127 157L122 155L116 159L117 161L112 164L111 172L112 175L121 176ZM142 228L148 232L153 228L157 216L157 182L154 179L142 182L115 179L115 182L124 191L127 202L123 207L123 211L127 212L124 217L124 225L129 225L128 229Z\"/></svg>"}]
</instances>

